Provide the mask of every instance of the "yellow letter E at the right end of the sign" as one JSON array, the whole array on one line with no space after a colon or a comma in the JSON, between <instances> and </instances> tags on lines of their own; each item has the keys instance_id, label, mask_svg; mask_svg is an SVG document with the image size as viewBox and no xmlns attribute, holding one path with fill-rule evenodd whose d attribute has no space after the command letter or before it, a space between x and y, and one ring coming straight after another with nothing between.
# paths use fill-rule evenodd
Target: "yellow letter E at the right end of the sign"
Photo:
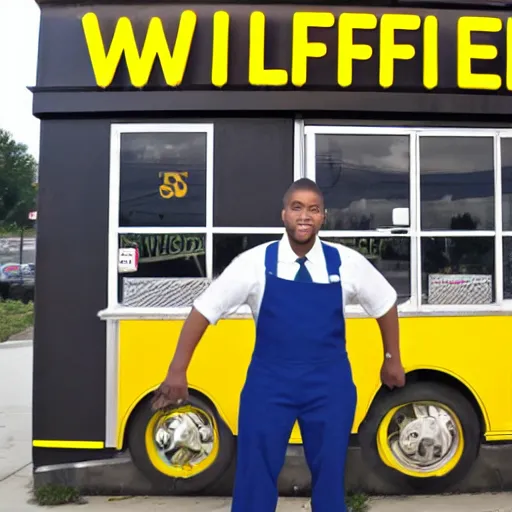
<instances>
[{"instance_id":1,"label":"yellow letter E at the right end of the sign","mask_svg":"<svg viewBox=\"0 0 512 512\"><path fill-rule=\"evenodd\" d=\"M457 83L461 89L496 90L501 87L501 77L477 74L471 71L472 59L492 60L498 48L492 44L472 44L472 32L499 32L503 24L499 18L462 16L457 27Z\"/></svg>"}]
</instances>

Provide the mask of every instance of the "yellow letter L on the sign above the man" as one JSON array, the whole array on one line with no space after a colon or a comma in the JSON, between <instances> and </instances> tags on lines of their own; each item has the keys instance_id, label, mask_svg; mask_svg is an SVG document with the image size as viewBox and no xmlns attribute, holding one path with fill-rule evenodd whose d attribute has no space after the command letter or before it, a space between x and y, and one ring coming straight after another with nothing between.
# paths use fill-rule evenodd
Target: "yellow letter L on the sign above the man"
<instances>
[{"instance_id":1,"label":"yellow letter L on the sign above the man","mask_svg":"<svg viewBox=\"0 0 512 512\"><path fill-rule=\"evenodd\" d=\"M265 69L265 15L251 14L249 27L249 83L251 85L286 85L286 69Z\"/></svg>"}]
</instances>

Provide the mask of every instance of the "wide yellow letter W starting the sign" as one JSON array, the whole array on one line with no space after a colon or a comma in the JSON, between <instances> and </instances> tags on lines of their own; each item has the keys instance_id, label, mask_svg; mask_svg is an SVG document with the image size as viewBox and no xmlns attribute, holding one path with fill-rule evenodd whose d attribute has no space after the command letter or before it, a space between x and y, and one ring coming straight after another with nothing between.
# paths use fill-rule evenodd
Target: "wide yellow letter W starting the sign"
<instances>
[{"instance_id":1,"label":"wide yellow letter W starting the sign","mask_svg":"<svg viewBox=\"0 0 512 512\"><path fill-rule=\"evenodd\" d=\"M134 87L144 87L148 83L157 55L160 58L167 85L179 85L187 67L196 22L195 12L184 11L181 14L174 51L171 55L162 20L151 18L146 40L139 55L133 27L128 18L122 17L118 20L110 49L106 52L98 18L92 12L87 13L82 18L82 26L96 83L100 87L108 87L112 83L124 52L128 74Z\"/></svg>"}]
</instances>

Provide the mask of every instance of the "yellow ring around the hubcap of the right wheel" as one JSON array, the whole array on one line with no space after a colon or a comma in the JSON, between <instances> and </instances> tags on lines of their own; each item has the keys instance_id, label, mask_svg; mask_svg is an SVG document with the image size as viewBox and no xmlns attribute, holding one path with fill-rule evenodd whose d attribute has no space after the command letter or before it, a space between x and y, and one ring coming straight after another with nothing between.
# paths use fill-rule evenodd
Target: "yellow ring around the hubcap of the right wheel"
<instances>
[{"instance_id":1,"label":"yellow ring around the hubcap of the right wheel","mask_svg":"<svg viewBox=\"0 0 512 512\"><path fill-rule=\"evenodd\" d=\"M389 466L390 468L393 468L400 473L412 476L415 478L431 478L431 477L441 477L447 475L450 471L452 471L455 466L460 462L460 459L462 458L462 454L464 452L464 432L462 430L462 424L460 423L459 418L457 415L446 405L444 404L438 404L437 402L430 402L430 401L421 401L421 403L431 403L435 405L441 406L443 409L445 409L447 412L450 413L454 423L455 427L457 428L457 433L459 435L459 446L457 447L456 452L453 454L453 457L441 468L435 470L435 471L413 471L410 469L407 469L404 467L400 462L395 458L393 455L393 452L391 451L388 443L388 428L389 423L395 413L401 409L402 407L406 407L409 405L409 403L401 404L393 409L391 409L386 416L384 416L384 419L382 420L381 424L379 425L379 429L377 431L377 449L379 451L379 456L382 459L382 462Z\"/></svg>"}]
</instances>

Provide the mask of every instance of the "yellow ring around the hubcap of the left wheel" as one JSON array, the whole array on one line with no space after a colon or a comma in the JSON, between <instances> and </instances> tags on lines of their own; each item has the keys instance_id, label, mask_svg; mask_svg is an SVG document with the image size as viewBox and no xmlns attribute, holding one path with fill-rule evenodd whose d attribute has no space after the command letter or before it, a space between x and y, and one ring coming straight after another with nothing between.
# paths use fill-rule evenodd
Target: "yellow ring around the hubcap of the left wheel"
<instances>
[{"instance_id":1,"label":"yellow ring around the hubcap of the left wheel","mask_svg":"<svg viewBox=\"0 0 512 512\"><path fill-rule=\"evenodd\" d=\"M203 461L201 461L199 464L196 464L194 466L187 465L187 466L171 466L170 464L166 463L160 454L158 453L158 450L155 446L154 441L154 434L153 430L155 428L156 423L161 420L164 416L173 416L177 412L199 412L200 414L206 414L208 416L208 419L212 422L213 425L213 449L210 455L206 457ZM187 405L185 407L181 407L179 409L174 409L171 413L165 413L165 412L157 412L152 417L151 420L148 422L148 425L146 427L146 432L144 435L144 443L146 446L146 452L148 454L149 460L153 464L153 466L158 469L161 473L164 475L170 476L172 478L191 478L193 476L198 475L199 473L202 473L205 469L210 467L217 458L217 455L219 453L219 431L217 428L217 423L215 421L215 418L207 414L206 411L203 409L199 409L197 407L193 407L190 405Z\"/></svg>"}]
</instances>

